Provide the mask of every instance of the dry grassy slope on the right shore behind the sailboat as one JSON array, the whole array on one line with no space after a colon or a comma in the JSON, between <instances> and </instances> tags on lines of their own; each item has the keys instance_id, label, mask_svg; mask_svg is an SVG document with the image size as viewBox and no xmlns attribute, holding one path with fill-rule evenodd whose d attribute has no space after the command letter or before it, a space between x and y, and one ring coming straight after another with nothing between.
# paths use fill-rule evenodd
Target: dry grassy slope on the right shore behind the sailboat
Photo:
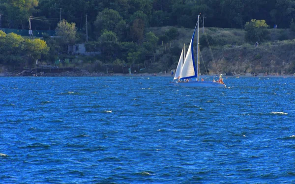
<instances>
[{"instance_id":1,"label":"dry grassy slope on the right shore behind the sailboat","mask_svg":"<svg viewBox=\"0 0 295 184\"><path fill-rule=\"evenodd\" d=\"M148 31L156 35L162 35L170 27L151 27ZM221 73L245 74L256 73L295 73L295 33L290 29L269 29L270 38L268 42L259 43L259 47L254 47L254 43L244 41L245 31L243 29L229 28L206 28L212 53L217 63L217 68ZM190 42L193 29L178 28L179 36L168 44L171 52L166 51L165 47L159 47L157 58L160 63L172 63L171 68L177 67L178 58L183 43ZM200 29L200 37L204 36ZM211 38L210 38L211 37ZM201 39L202 40L202 39ZM201 46L204 41L200 41ZM213 43L211 43L213 42ZM167 44L166 44L167 46ZM204 45L205 46L205 45ZM207 45L206 45L207 46ZM166 50L167 47L166 47ZM201 53L207 69L210 73L216 73L216 67L211 57L208 47L202 47ZM201 60L201 72L204 73L205 67Z\"/></svg>"}]
</instances>

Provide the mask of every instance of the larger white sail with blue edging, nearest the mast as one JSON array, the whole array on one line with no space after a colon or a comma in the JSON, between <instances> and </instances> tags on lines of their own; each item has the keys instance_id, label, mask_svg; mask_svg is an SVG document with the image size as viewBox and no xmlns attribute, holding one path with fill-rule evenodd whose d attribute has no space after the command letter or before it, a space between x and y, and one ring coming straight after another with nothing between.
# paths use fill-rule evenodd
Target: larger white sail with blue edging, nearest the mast
<instances>
[{"instance_id":1,"label":"larger white sail with blue edging, nearest the mast","mask_svg":"<svg viewBox=\"0 0 295 184\"><path fill-rule=\"evenodd\" d=\"M180 74L180 79L186 79L191 77L196 77L195 68L194 68L194 59L192 52L192 42L194 38L192 38L191 43L189 44L187 54L183 63L183 67Z\"/></svg>"}]
</instances>

